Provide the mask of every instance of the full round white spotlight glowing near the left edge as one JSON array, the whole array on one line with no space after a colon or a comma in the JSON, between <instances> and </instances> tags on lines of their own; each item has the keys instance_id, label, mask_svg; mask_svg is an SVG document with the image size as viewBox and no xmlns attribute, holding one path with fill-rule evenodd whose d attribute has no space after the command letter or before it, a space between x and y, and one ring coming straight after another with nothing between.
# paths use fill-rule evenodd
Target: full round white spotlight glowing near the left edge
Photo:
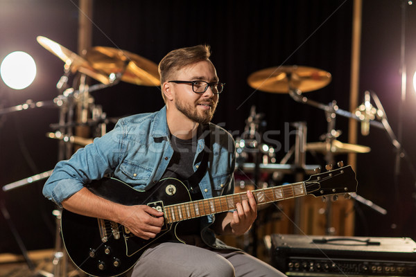
<instances>
[{"instance_id":1,"label":"full round white spotlight glowing near the left edge","mask_svg":"<svg viewBox=\"0 0 416 277\"><path fill-rule=\"evenodd\" d=\"M24 89L35 80L35 60L28 53L21 51L12 52L1 62L0 75L8 87Z\"/></svg>"}]
</instances>

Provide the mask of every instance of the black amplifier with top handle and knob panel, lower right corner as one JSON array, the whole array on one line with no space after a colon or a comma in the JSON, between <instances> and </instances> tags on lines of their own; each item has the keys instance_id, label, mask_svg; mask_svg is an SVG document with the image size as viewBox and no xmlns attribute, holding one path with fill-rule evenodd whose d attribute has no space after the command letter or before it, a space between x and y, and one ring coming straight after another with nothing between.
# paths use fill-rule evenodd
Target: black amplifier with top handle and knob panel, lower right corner
<instances>
[{"instance_id":1,"label":"black amplifier with top handle and knob panel, lower right corner","mask_svg":"<svg viewBox=\"0 0 416 277\"><path fill-rule=\"evenodd\" d=\"M272 266L287 276L416 276L410 238L270 235Z\"/></svg>"}]
</instances>

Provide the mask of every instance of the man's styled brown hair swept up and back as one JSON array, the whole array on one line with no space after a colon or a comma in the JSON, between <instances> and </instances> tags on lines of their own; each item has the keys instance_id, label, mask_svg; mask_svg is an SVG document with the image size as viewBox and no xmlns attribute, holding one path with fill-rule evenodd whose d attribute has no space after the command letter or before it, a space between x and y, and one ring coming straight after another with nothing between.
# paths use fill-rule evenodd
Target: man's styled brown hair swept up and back
<instances>
[{"instance_id":1,"label":"man's styled brown hair swept up and back","mask_svg":"<svg viewBox=\"0 0 416 277\"><path fill-rule=\"evenodd\" d=\"M211 48L209 45L197 45L191 47L178 48L169 52L159 62L160 85L163 93L163 83L166 82L171 75L182 67L197 62L209 61L211 56Z\"/></svg>"}]
</instances>

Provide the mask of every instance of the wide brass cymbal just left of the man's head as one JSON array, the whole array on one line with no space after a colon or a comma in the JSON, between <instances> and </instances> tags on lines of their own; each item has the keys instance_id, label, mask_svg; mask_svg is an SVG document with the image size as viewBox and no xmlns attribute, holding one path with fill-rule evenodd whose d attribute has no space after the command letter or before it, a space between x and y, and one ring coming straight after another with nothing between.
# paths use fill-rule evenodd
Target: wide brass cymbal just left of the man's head
<instances>
[{"instance_id":1,"label":"wide brass cymbal just left of the man's head","mask_svg":"<svg viewBox=\"0 0 416 277\"><path fill-rule=\"evenodd\" d=\"M94 69L107 74L122 73L121 80L141 86L159 86L157 64L144 57L121 49L95 46L85 58Z\"/></svg>"}]
</instances>

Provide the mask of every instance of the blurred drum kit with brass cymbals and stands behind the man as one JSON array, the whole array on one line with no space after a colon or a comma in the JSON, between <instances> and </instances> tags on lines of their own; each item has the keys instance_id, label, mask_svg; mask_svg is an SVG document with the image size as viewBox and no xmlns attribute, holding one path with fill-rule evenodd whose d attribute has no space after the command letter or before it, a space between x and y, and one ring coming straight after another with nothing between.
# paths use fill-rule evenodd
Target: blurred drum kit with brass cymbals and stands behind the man
<instances>
[{"instance_id":1,"label":"blurred drum kit with brass cymbals and stands behind the man","mask_svg":"<svg viewBox=\"0 0 416 277\"><path fill-rule=\"evenodd\" d=\"M22 105L0 109L0 115L51 105L59 107L59 123L51 125L55 128L55 132L46 134L47 137L60 141L59 159L68 159L73 154L73 148L76 145L82 147L92 143L91 137L102 136L106 132L106 125L110 119L106 118L102 107L94 103L90 92L114 86L120 81L140 86L160 85L157 64L135 53L96 46L86 51L85 55L81 57L46 37L37 37L37 42L64 62L64 74L57 84L60 95L53 101L32 102L28 100ZM80 73L78 89L69 85L69 78L75 73ZM98 84L89 86L87 78L98 81ZM237 167L241 169L236 170L237 191L252 189L252 186L272 186L264 181L262 177L264 174L284 175L300 172L300 170L305 174L313 174L313 170L318 166L306 165L306 151L324 154L327 163L333 163L333 157L337 154L370 152L370 148L366 146L342 143L337 140L339 132L334 128L335 115L340 114L360 120L357 115L339 109L335 101L324 105L309 100L302 94L321 89L329 82L331 82L329 72L306 66L277 66L254 72L248 77L248 84L253 89L268 93L288 93L297 102L323 109L327 114L328 132L322 141L306 143L306 123L293 123L292 125L297 130L295 145L284 159L278 162L275 148L260 139L264 116L257 114L253 106L250 116L245 121L244 136L236 138L236 163ZM292 155L295 157L295 162L288 164ZM15 181L3 186L3 191L46 179L51 175L51 172L52 170L49 170ZM240 176L239 179L239 172L244 172L245 177ZM248 175L251 177L247 177ZM365 202L366 199L361 201ZM59 216L58 213L57 218ZM57 244L55 259L58 259L58 262L54 262L54 265L58 265L62 255L58 255L61 253L59 242L55 242L55 244ZM22 252L24 250L21 249ZM54 269L53 276L61 275L57 270L59 269Z\"/></svg>"}]
</instances>

